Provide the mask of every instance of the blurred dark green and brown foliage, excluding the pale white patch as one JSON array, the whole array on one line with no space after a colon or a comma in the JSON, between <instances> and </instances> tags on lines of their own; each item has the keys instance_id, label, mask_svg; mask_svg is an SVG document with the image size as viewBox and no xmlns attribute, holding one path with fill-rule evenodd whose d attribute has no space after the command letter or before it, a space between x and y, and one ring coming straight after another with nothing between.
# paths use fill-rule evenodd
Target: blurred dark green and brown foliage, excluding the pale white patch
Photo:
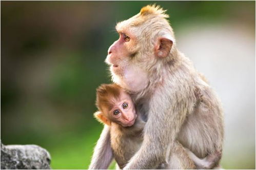
<instances>
[{"instance_id":1,"label":"blurred dark green and brown foliage, excluding the pale white patch","mask_svg":"<svg viewBox=\"0 0 256 170\"><path fill-rule=\"evenodd\" d=\"M96 87L110 82L114 26L154 3L168 9L174 31L194 19L255 26L253 1L2 1L3 143L41 145L55 169L87 168L102 130L92 114ZM246 164L231 157L224 168L255 168L255 155Z\"/></svg>"}]
</instances>

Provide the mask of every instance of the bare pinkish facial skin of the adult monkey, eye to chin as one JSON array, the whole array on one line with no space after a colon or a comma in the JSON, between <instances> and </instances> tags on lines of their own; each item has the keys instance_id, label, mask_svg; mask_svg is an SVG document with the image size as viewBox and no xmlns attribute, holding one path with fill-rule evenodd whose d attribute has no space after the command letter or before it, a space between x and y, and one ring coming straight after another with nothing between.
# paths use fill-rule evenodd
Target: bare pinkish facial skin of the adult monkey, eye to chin
<instances>
[{"instance_id":1,"label":"bare pinkish facial skin of the adult monkey, eye to chin","mask_svg":"<svg viewBox=\"0 0 256 170\"><path fill-rule=\"evenodd\" d=\"M126 41L127 36L130 37L129 41ZM135 37L120 33L120 38L109 47L105 61L110 65L115 83L129 91L139 92L147 86L149 79L146 71L130 62L131 55L135 52L129 50L134 43Z\"/></svg>"}]
</instances>

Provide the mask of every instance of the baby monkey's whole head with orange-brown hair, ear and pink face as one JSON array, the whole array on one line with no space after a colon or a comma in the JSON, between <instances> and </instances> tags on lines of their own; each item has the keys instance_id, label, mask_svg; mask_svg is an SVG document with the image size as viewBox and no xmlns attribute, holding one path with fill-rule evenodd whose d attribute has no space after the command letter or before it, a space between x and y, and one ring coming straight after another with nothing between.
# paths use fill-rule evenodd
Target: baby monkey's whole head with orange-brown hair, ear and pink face
<instances>
[{"instance_id":1,"label":"baby monkey's whole head with orange-brown hair, ear and pink face","mask_svg":"<svg viewBox=\"0 0 256 170\"><path fill-rule=\"evenodd\" d=\"M102 84L96 90L96 107L94 116L102 123L111 122L122 126L132 126L137 117L131 96L115 83Z\"/></svg>"}]
</instances>

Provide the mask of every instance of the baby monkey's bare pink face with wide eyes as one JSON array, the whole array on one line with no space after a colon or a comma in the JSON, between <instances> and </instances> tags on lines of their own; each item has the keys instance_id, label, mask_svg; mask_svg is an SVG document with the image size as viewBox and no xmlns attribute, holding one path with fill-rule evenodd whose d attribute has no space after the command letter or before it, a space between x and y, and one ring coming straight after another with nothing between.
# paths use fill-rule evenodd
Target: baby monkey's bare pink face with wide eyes
<instances>
[{"instance_id":1,"label":"baby monkey's bare pink face with wide eyes","mask_svg":"<svg viewBox=\"0 0 256 170\"><path fill-rule=\"evenodd\" d=\"M121 90L119 98L112 98L110 102L113 105L108 112L110 120L122 126L132 126L137 115L131 96Z\"/></svg>"}]
</instances>

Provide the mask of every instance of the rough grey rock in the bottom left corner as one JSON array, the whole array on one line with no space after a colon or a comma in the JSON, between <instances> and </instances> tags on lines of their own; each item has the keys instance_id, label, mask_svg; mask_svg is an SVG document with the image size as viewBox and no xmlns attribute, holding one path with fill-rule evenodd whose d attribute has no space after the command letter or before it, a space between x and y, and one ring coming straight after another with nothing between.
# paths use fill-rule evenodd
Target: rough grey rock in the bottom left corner
<instances>
[{"instance_id":1,"label":"rough grey rock in the bottom left corner","mask_svg":"<svg viewBox=\"0 0 256 170\"><path fill-rule=\"evenodd\" d=\"M50 154L42 147L4 145L1 141L1 169L51 169Z\"/></svg>"}]
</instances>

